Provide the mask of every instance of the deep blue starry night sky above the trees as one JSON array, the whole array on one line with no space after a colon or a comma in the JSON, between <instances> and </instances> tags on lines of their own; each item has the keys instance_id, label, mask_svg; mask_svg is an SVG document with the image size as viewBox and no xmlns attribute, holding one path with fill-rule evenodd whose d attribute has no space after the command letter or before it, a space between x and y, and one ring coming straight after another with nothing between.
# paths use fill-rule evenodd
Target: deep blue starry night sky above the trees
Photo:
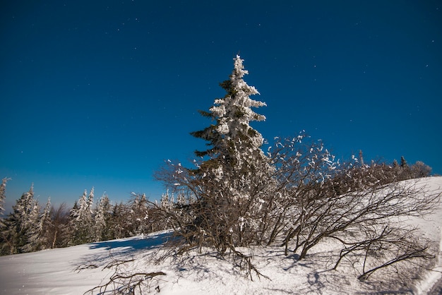
<instances>
[{"instance_id":1,"label":"deep blue starry night sky above the trees","mask_svg":"<svg viewBox=\"0 0 442 295\"><path fill-rule=\"evenodd\" d=\"M265 138L442 174L441 1L2 1L0 24L6 205L31 183L41 203L158 198L153 172L203 147L197 110L237 53Z\"/></svg>"}]
</instances>

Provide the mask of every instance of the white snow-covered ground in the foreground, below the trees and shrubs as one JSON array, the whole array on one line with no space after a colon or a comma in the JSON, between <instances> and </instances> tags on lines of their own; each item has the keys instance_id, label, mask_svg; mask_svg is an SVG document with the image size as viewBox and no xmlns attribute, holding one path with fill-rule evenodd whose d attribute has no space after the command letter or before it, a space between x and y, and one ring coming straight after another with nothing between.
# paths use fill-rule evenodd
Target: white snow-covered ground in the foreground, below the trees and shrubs
<instances>
[{"instance_id":1,"label":"white snow-covered ground in the foreground, below the trees and shrubs","mask_svg":"<svg viewBox=\"0 0 442 295\"><path fill-rule=\"evenodd\" d=\"M442 191L442 177L419 181L427 189ZM413 219L423 234L441 244L442 208L424 219ZM106 267L117 260L131 260L119 265L121 270L135 272L164 272L150 282L150 291L156 294L397 294L398 286L384 284L379 279L359 282L357 272L344 264L330 270L334 243L321 243L304 260L296 255L285 256L277 246L253 249L258 270L265 277L253 281L241 276L225 260L213 255L191 255L179 260L153 263L160 257L170 234L158 232L130 239L89 243L37 253L0 257L0 294L83 294L108 282L114 267ZM82 269L82 270L79 270ZM442 271L438 257L435 270ZM428 272L412 282L414 294L428 294L441 279L441 272ZM410 289L407 287L405 289ZM109 289L108 289L109 290ZM99 294L96 289L94 294ZM107 293L112 294L112 293Z\"/></svg>"}]
</instances>

